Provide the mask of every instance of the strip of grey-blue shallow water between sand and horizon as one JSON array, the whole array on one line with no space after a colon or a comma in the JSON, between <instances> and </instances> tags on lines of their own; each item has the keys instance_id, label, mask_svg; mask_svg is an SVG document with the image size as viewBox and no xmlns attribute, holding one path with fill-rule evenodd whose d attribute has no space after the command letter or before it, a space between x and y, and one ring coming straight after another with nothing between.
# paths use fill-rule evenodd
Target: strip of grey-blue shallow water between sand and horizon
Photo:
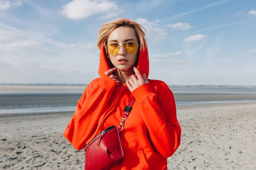
<instances>
[{"instance_id":1,"label":"strip of grey-blue shallow water between sand and horizon","mask_svg":"<svg viewBox=\"0 0 256 170\"><path fill-rule=\"evenodd\" d=\"M170 88L176 105L256 101L256 88ZM0 91L0 114L73 112L80 89Z\"/></svg>"}]
</instances>

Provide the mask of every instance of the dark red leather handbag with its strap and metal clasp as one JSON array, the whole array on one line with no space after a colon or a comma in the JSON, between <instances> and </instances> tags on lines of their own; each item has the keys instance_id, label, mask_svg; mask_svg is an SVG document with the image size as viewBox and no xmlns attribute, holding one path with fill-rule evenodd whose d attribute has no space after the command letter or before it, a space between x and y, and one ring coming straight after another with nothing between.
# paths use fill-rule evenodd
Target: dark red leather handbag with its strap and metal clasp
<instances>
[{"instance_id":1,"label":"dark red leather handbag with its strap and metal clasp","mask_svg":"<svg viewBox=\"0 0 256 170\"><path fill-rule=\"evenodd\" d=\"M119 137L123 124L131 112L135 102L134 96L128 106L125 106L121 124L110 126L97 135L87 146L85 151L85 170L109 170L124 159L124 152ZM121 128L121 129L120 129Z\"/></svg>"}]
</instances>

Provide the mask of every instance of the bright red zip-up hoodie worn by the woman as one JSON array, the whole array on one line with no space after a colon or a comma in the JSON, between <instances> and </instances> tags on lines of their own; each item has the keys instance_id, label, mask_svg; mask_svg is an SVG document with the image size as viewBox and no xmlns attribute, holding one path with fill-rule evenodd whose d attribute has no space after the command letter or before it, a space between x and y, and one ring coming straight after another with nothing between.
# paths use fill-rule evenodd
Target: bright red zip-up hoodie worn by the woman
<instances>
[{"instance_id":1,"label":"bright red zip-up hoodie worn by the woman","mask_svg":"<svg viewBox=\"0 0 256 170\"><path fill-rule=\"evenodd\" d=\"M148 79L130 92L105 74L109 70L104 48L100 51L99 75L85 89L64 137L77 150L83 149L105 128L122 121L131 96L136 101L125 121L120 139L125 159L111 170L166 170L167 158L180 145L181 128L177 121L172 91L160 80ZM148 49L140 51L138 70L149 74Z\"/></svg>"}]
</instances>

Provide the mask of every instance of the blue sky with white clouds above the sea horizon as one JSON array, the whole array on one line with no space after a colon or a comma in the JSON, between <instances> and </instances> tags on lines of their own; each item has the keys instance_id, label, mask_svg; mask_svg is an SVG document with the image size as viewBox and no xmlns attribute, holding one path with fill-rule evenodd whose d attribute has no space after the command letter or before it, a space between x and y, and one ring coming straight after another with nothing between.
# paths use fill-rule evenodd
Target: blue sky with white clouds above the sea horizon
<instances>
[{"instance_id":1,"label":"blue sky with white clouds above the sea horizon","mask_svg":"<svg viewBox=\"0 0 256 170\"><path fill-rule=\"evenodd\" d=\"M0 0L0 83L90 83L120 17L146 30L149 79L256 85L256 0Z\"/></svg>"}]
</instances>

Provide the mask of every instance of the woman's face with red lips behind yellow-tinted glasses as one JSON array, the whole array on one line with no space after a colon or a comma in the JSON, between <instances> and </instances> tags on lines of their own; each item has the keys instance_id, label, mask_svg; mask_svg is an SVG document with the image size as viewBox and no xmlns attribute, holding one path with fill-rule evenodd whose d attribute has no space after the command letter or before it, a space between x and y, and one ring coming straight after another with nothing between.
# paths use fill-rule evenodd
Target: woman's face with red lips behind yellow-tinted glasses
<instances>
[{"instance_id":1,"label":"woman's face with red lips behind yellow-tinted glasses","mask_svg":"<svg viewBox=\"0 0 256 170\"><path fill-rule=\"evenodd\" d=\"M123 42L127 43L124 45ZM112 64L123 72L133 70L133 66L137 61L137 54L140 50L139 47L137 47L137 51L135 53L132 51L135 46L139 45L134 29L130 27L116 28L108 37L107 43L113 43L111 44L113 48L118 44L120 46L119 51L117 51L118 49L114 51L116 54L109 54ZM134 54L129 54L129 51Z\"/></svg>"}]
</instances>

